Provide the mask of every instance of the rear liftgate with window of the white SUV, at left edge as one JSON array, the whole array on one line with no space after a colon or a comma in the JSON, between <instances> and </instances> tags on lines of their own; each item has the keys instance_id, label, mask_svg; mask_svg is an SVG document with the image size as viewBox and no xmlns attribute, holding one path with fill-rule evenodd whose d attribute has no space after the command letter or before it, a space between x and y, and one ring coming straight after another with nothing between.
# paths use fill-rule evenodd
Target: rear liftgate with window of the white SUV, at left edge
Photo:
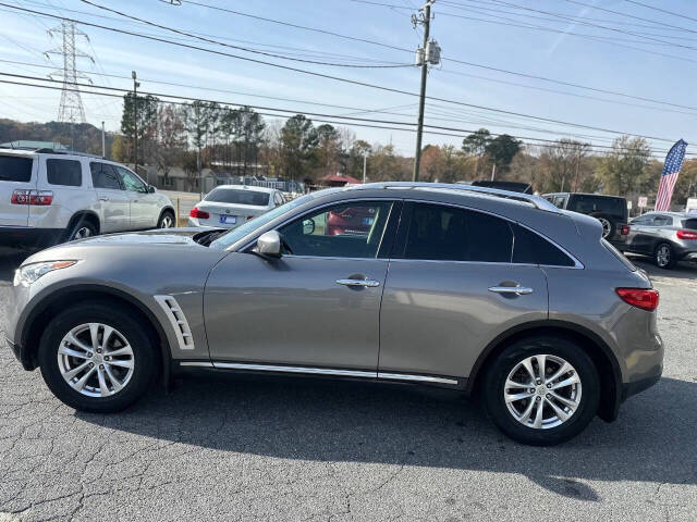
<instances>
[{"instance_id":1,"label":"rear liftgate with window of the white SUV, at left edge","mask_svg":"<svg viewBox=\"0 0 697 522\"><path fill-rule=\"evenodd\" d=\"M36 190L37 167L32 157L0 154L0 226L28 225L29 206L22 198Z\"/></svg>"}]
</instances>

